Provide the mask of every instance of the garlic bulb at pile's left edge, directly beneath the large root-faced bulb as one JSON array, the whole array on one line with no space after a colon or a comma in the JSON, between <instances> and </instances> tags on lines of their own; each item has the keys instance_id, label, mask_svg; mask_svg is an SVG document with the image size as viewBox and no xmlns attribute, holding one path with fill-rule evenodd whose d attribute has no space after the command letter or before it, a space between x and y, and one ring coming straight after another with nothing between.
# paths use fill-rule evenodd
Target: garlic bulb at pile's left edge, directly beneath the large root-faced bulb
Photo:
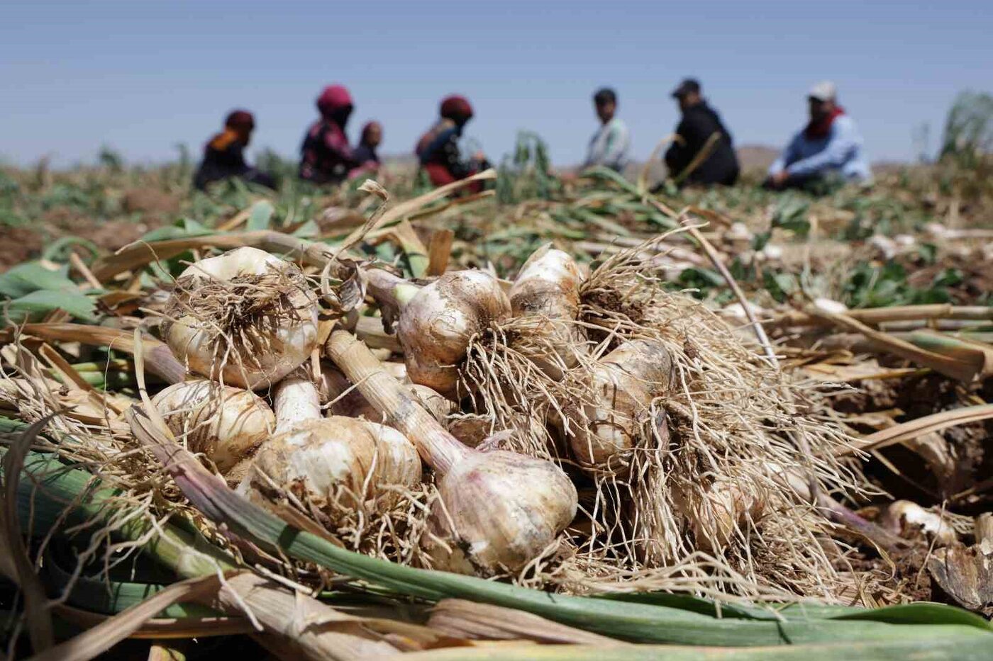
<instances>
[{"instance_id":1,"label":"garlic bulb at pile's left edge, directly beneath the large root-faced bulb","mask_svg":"<svg viewBox=\"0 0 993 661\"><path fill-rule=\"evenodd\" d=\"M170 431L191 452L203 453L221 474L250 457L272 435L276 422L261 397L209 379L171 385L152 404Z\"/></svg>"}]
</instances>

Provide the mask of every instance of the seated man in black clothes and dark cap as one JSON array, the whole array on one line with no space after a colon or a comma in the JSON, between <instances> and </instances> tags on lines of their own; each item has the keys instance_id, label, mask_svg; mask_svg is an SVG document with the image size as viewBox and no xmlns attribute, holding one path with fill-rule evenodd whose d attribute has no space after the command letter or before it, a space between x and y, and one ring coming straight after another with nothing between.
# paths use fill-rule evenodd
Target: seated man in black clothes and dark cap
<instances>
[{"instance_id":1,"label":"seated man in black clothes and dark cap","mask_svg":"<svg viewBox=\"0 0 993 661\"><path fill-rule=\"evenodd\" d=\"M682 182L705 186L723 184L732 186L738 181L738 156L735 154L731 132L721 123L721 118L700 95L700 83L686 78L672 91L679 101L682 119L676 126L676 138L665 152L665 166L669 178L677 178L698 158L701 150L709 156L696 163Z\"/></svg>"}]
</instances>

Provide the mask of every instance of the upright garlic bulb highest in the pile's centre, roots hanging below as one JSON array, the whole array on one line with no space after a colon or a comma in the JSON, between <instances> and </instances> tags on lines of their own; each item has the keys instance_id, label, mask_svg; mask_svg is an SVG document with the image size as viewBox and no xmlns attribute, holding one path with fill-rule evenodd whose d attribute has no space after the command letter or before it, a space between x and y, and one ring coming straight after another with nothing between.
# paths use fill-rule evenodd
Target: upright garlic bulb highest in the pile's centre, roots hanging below
<instances>
[{"instance_id":1,"label":"upright garlic bulb highest in the pile's centre, roots hanging below","mask_svg":"<svg viewBox=\"0 0 993 661\"><path fill-rule=\"evenodd\" d=\"M548 244L527 258L510 287L511 312L527 322L514 347L553 378L561 378L563 368L574 366L586 348L585 333L575 324L585 279L571 255Z\"/></svg>"}]
</instances>

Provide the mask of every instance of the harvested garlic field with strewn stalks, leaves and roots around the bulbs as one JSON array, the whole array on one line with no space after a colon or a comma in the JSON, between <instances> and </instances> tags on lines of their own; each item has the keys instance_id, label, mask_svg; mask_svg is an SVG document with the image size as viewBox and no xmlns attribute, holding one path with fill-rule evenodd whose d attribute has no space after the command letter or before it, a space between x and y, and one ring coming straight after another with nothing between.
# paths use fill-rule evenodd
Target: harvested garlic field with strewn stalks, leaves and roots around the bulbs
<instances>
[{"instance_id":1,"label":"harvested garlic field with strewn stalks, leaves and roots around the bulbs","mask_svg":"<svg viewBox=\"0 0 993 661\"><path fill-rule=\"evenodd\" d=\"M301 184L274 156L260 165L277 192L194 192L189 163L136 168L112 152L68 172L0 171L9 651L988 658L988 154L949 151L818 196L764 191L758 173L715 190L676 190L647 169L564 180L533 135L474 195L433 193L402 164L387 164L381 189L338 190ZM210 448L149 413L171 380L155 352L169 352L160 340L192 286L181 274L256 246L298 263L320 299L304 367L334 362L347 384L330 401L322 391L326 408L414 440L409 393L394 410L375 404L401 390L376 390L381 365L414 380L417 339L386 328L402 313L380 280L479 269L512 297L549 243L590 274L567 327L592 348L549 369L561 329L484 324L450 408L426 423L554 464L576 490L578 514L526 563L484 566L463 549L466 570L438 551L440 468L386 505L344 492L319 503L303 478L241 498ZM225 308L231 285L214 306L228 317L254 319L252 296L289 296L232 282L241 300ZM349 362L353 335L375 369ZM633 414L643 436L624 465L594 468L563 450L579 432L561 421L593 429L593 374L634 340L664 346L679 376ZM278 398L257 392L278 417Z\"/></svg>"}]
</instances>

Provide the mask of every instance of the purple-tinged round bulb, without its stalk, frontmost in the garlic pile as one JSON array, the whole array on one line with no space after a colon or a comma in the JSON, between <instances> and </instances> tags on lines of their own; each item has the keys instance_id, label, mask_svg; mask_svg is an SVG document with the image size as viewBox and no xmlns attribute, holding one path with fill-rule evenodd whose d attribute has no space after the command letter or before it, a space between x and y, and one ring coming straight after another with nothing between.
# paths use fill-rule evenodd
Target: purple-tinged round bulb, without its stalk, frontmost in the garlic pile
<instances>
[{"instance_id":1,"label":"purple-tinged round bulb, without its stalk, frontmost in the garlic pile","mask_svg":"<svg viewBox=\"0 0 993 661\"><path fill-rule=\"evenodd\" d=\"M434 569L477 576L520 570L576 516L572 480L551 462L495 450L474 453L438 482L434 535L424 549Z\"/></svg>"}]
</instances>

